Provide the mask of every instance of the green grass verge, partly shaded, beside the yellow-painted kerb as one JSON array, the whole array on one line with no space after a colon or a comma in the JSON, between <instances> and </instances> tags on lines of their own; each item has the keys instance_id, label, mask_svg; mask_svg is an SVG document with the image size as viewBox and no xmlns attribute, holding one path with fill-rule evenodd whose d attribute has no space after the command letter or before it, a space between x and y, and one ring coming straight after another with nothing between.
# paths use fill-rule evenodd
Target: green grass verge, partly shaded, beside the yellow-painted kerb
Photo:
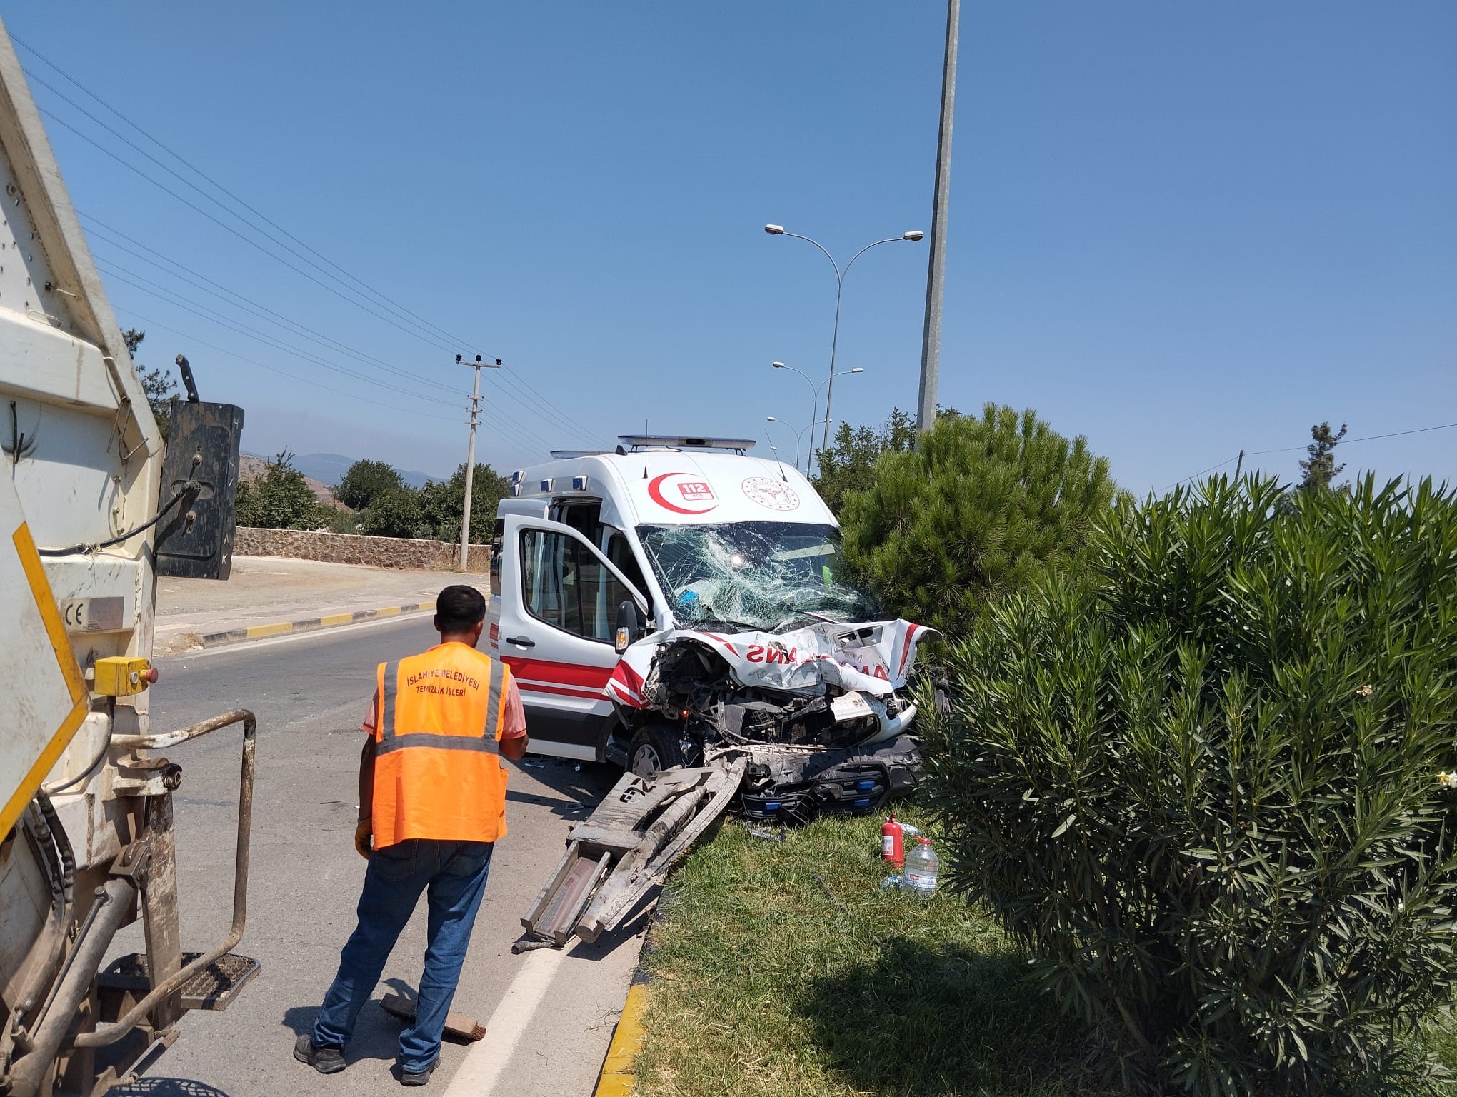
<instances>
[{"instance_id":1,"label":"green grass verge, partly shaded, beside the yellow-painted kerb","mask_svg":"<svg viewBox=\"0 0 1457 1097\"><path fill-rule=\"evenodd\" d=\"M881 890L879 845L870 817L782 845L730 822L683 862L643 960L638 1094L1103 1091L1085 1034L1030 985L1026 956L960 899Z\"/></svg>"}]
</instances>

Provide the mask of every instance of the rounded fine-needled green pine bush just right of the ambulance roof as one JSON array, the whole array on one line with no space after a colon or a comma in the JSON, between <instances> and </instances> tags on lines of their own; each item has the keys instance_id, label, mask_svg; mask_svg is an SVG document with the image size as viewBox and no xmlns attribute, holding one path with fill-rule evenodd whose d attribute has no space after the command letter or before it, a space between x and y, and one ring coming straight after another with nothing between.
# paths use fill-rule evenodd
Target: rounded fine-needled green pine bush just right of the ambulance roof
<instances>
[{"instance_id":1,"label":"rounded fine-needled green pine bush just right of the ambulance roof","mask_svg":"<svg viewBox=\"0 0 1457 1097\"><path fill-rule=\"evenodd\" d=\"M949 637L994 597L1069 565L1113 500L1107 460L1030 408L940 418L845 497L845 558L876 596Z\"/></svg>"}]
</instances>

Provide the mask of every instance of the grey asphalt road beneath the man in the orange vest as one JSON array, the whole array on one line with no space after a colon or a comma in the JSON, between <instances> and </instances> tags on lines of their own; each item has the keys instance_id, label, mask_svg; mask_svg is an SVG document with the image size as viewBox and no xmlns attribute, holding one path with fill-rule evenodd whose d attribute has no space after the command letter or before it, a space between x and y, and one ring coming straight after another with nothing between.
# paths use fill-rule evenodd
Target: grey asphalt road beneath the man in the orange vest
<instances>
[{"instance_id":1,"label":"grey asphalt road beneath the man in the orange vest","mask_svg":"<svg viewBox=\"0 0 1457 1097\"><path fill-rule=\"evenodd\" d=\"M418 985L423 908L364 1007L348 1069L319 1075L294 1062L291 1052L296 1036L312 1027L339 948L354 928L364 878L364 861L353 848L358 727L374 666L434 640L428 618L415 618L159 660L160 680L152 691L154 731L233 708L251 708L258 717L248 928L237 951L261 960L262 973L226 1013L186 1014L181 1039L146 1077L112 1093L366 1097L399 1091L389 1069L399 1023L379 1008L379 998L392 988L412 994ZM184 948L208 948L227 932L239 742L239 730L227 728L165 752L184 771L175 794ZM586 1097L622 1008L645 919L638 916L594 945L577 943L564 956L517 957L510 945L520 935L520 915L561 855L568 825L590 813L618 772L587 763L578 772L571 762L530 755L510 765L510 833L492 857L453 1007L482 1024L492 1014L500 1023L479 1045L447 1042L431 1088L444 1093L471 1053L455 1091ZM140 925L122 931L114 948L141 950ZM517 979L523 966L529 970ZM507 1004L497 1014L503 996Z\"/></svg>"}]
</instances>

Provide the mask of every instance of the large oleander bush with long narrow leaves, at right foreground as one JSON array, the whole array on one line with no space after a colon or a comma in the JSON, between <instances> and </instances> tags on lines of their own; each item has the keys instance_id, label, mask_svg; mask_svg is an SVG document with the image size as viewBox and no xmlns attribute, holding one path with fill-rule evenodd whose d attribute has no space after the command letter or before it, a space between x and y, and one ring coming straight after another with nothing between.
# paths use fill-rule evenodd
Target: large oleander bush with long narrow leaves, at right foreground
<instances>
[{"instance_id":1,"label":"large oleander bush with long narrow leaves, at right foreground","mask_svg":"<svg viewBox=\"0 0 1457 1097\"><path fill-rule=\"evenodd\" d=\"M1457 503L1279 497L1119 504L922 724L951 886L1151 1091L1389 1091L1457 986Z\"/></svg>"}]
</instances>

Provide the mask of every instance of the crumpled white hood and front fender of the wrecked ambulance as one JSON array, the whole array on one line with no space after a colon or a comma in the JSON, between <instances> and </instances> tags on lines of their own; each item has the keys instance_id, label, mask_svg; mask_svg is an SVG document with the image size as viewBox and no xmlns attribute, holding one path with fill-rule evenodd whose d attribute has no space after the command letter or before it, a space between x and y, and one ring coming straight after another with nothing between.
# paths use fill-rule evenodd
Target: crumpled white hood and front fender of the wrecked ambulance
<instances>
[{"instance_id":1,"label":"crumpled white hood and front fender of the wrecked ambulance","mask_svg":"<svg viewBox=\"0 0 1457 1097\"><path fill-rule=\"evenodd\" d=\"M935 629L909 621L822 622L794 632L698 632L669 629L622 653L603 692L631 708L647 708L643 683L660 648L689 640L723 656L745 686L785 693L822 693L826 685L887 696L906 683L916 644Z\"/></svg>"}]
</instances>

